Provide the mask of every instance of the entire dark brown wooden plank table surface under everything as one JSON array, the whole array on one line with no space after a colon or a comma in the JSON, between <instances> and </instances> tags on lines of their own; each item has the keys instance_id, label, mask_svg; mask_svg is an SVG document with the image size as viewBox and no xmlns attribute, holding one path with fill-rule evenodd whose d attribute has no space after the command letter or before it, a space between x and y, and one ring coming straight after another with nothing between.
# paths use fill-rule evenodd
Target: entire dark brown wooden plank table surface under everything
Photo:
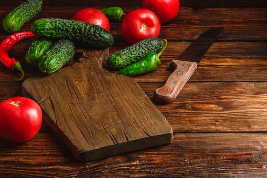
<instances>
[{"instance_id":1,"label":"entire dark brown wooden plank table surface under everything","mask_svg":"<svg viewBox=\"0 0 267 178\"><path fill-rule=\"evenodd\" d=\"M22 1L0 1L0 20ZM173 128L169 145L86 163L78 162L43 122L29 142L0 139L0 177L267 177L267 4L264 0L181 0L177 17L162 24L169 43L154 72L133 77ZM41 17L71 18L83 8L120 6L127 13L142 1L51 1L25 24ZM153 91L171 74L170 61L211 27L223 26L175 101L160 105ZM129 44L120 23L111 23L110 54ZM0 28L0 40L7 37ZM19 42L10 56L19 59L25 79L40 72L25 63L33 39ZM74 61L81 57L77 49ZM114 72L114 71L111 71ZM22 96L19 73L0 65L0 101Z\"/></svg>"}]
</instances>

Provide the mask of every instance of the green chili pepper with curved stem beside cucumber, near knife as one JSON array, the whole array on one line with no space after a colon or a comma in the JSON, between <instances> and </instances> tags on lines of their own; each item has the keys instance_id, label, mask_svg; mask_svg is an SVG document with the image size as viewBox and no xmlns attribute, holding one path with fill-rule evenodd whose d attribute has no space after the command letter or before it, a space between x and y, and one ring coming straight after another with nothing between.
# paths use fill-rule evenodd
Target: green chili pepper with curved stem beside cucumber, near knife
<instances>
[{"instance_id":1,"label":"green chili pepper with curved stem beside cucumber, near knife","mask_svg":"<svg viewBox=\"0 0 267 178\"><path fill-rule=\"evenodd\" d=\"M117 75L136 76L151 72L161 64L160 56L167 46L167 40L164 39L165 45L162 50L157 54L155 52L149 52L140 61L126 66L117 72Z\"/></svg>"}]
</instances>

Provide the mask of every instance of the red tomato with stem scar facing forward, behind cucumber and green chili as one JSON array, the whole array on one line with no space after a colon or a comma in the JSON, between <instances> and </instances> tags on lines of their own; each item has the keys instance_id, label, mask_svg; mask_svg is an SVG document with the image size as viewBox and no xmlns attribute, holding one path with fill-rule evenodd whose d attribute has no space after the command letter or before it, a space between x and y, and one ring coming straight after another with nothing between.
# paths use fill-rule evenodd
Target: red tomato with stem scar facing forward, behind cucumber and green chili
<instances>
[{"instance_id":1,"label":"red tomato with stem scar facing forward, behind cucumber and green chili","mask_svg":"<svg viewBox=\"0 0 267 178\"><path fill-rule=\"evenodd\" d=\"M121 31L124 39L133 44L147 37L158 37L161 23L152 11L136 9L123 17Z\"/></svg>"}]
</instances>

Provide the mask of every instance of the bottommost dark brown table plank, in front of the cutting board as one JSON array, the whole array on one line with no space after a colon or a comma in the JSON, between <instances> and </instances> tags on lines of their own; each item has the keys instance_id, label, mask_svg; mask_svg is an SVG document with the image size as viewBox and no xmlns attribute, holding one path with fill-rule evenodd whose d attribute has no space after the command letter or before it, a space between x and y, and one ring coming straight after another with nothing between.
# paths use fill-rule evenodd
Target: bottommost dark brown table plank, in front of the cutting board
<instances>
[{"instance_id":1,"label":"bottommost dark brown table plank, in front of the cutting board","mask_svg":"<svg viewBox=\"0 0 267 178\"><path fill-rule=\"evenodd\" d=\"M78 163L55 134L0 140L3 177L264 177L267 133L175 133L173 143Z\"/></svg>"}]
</instances>

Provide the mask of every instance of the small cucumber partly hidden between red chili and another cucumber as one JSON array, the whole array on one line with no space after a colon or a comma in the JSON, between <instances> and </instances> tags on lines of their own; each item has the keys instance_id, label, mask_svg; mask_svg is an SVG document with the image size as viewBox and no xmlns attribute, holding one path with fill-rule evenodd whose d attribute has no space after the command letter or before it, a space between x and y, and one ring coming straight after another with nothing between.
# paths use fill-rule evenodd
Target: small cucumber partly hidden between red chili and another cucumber
<instances>
[{"instance_id":1,"label":"small cucumber partly hidden between red chili and another cucumber","mask_svg":"<svg viewBox=\"0 0 267 178\"><path fill-rule=\"evenodd\" d=\"M52 40L37 39L33 41L26 53L26 62L32 66L37 66L43 54L53 45Z\"/></svg>"}]
</instances>

